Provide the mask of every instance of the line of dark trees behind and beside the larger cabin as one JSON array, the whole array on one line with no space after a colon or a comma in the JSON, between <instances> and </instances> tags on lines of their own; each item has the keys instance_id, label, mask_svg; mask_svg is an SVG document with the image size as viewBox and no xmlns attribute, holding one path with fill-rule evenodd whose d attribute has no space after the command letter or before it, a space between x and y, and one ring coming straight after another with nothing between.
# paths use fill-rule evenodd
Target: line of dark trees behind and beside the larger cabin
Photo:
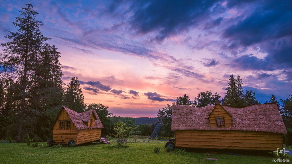
<instances>
[{"instance_id":1,"label":"line of dark trees behind and beside the larger cabin","mask_svg":"<svg viewBox=\"0 0 292 164\"><path fill-rule=\"evenodd\" d=\"M217 92L212 94L211 90L207 90L206 92L199 93L193 101L185 94L177 97L172 104L189 105L197 108L205 107L207 105L215 105L216 103L238 108L253 104L261 104L261 102L255 97L256 93L252 90L246 90L244 93L244 87L242 87L242 80L239 75L236 79L233 75L229 76L228 87L225 90L225 96L222 100L219 99L221 96L218 95ZM289 95L287 99L280 101L282 102L282 105L279 104L276 96L272 94L269 102L265 101L265 103L276 102L286 128L292 128L292 95ZM172 137L174 135L171 131L171 116L172 106L168 103L165 107L159 109L157 113L159 121L163 123L160 130L162 136Z\"/></svg>"}]
</instances>

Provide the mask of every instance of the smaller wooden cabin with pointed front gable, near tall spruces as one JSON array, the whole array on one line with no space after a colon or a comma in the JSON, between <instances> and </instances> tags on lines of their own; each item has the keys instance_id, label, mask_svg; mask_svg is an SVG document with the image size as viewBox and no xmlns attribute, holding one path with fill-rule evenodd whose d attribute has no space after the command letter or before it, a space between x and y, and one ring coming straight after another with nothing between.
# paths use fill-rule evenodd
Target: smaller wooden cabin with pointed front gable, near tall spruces
<instances>
[{"instance_id":1,"label":"smaller wooden cabin with pointed front gable, near tall spruces","mask_svg":"<svg viewBox=\"0 0 292 164\"><path fill-rule=\"evenodd\" d=\"M62 107L53 124L53 140L68 143L74 140L76 144L83 144L100 140L102 123L95 110L77 113ZM69 143L68 143L69 144Z\"/></svg>"}]
</instances>

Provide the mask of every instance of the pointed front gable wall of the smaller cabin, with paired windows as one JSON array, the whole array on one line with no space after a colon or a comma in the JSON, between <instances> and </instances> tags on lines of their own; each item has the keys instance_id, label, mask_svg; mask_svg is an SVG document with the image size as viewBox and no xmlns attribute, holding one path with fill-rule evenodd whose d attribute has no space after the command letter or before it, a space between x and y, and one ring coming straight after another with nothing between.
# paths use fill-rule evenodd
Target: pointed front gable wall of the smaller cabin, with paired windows
<instances>
[{"instance_id":1,"label":"pointed front gable wall of the smaller cabin, with paired windows","mask_svg":"<svg viewBox=\"0 0 292 164\"><path fill-rule=\"evenodd\" d=\"M65 109L62 110L58 120L71 120ZM65 124L64 124L65 126ZM71 130L60 130L59 129L59 122L57 121L53 127L53 139L55 142L61 142L61 136L64 139L65 143L67 144L70 139L74 139L74 141L77 141L77 133L78 130L76 126L71 121Z\"/></svg>"}]
</instances>

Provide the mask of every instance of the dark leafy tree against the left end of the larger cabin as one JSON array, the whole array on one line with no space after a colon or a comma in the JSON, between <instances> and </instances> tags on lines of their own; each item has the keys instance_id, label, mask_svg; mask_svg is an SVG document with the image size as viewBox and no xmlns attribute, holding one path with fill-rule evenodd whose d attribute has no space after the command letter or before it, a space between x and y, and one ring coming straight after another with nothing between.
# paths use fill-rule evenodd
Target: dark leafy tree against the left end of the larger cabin
<instances>
[{"instance_id":1,"label":"dark leafy tree against the left end of the larger cabin","mask_svg":"<svg viewBox=\"0 0 292 164\"><path fill-rule=\"evenodd\" d=\"M171 115L172 115L172 106L167 103L165 107L159 109L157 113L157 118L162 122L162 126L160 128L160 136L170 137L173 135L171 131Z\"/></svg>"}]
</instances>

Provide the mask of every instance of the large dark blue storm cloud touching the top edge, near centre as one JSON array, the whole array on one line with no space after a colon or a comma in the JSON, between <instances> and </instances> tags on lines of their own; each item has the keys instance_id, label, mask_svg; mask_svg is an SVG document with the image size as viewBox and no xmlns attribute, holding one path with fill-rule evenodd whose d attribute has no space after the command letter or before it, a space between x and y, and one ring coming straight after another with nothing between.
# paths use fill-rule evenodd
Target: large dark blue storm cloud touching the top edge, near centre
<instances>
[{"instance_id":1,"label":"large dark blue storm cloud touching the top edge, near centre","mask_svg":"<svg viewBox=\"0 0 292 164\"><path fill-rule=\"evenodd\" d=\"M190 28L198 26L201 21L208 19L209 8L215 2L215 0L137 1L130 24L132 29L138 33L157 32L153 39L163 41L168 36L188 31Z\"/></svg>"}]
</instances>

